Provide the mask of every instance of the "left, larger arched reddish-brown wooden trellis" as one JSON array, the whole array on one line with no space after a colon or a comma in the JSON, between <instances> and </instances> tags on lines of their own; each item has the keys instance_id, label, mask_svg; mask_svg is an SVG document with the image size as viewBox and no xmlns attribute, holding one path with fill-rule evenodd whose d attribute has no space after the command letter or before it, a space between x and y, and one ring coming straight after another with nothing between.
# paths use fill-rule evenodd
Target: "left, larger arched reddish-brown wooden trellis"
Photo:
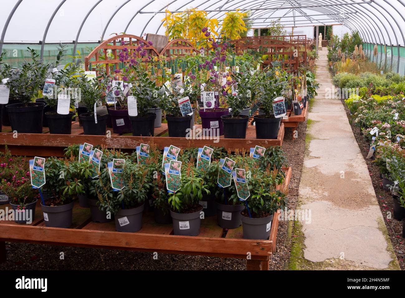
<instances>
[{"instance_id":1,"label":"left, larger arched reddish-brown wooden trellis","mask_svg":"<svg viewBox=\"0 0 405 298\"><path fill-rule=\"evenodd\" d=\"M124 42L124 45L122 45L122 42ZM132 56L135 49L140 45L141 42L145 43L145 49L148 51L148 56L159 56L158 51L156 51L152 45L148 45L147 41L142 37L131 34L122 34L113 36L110 39L103 41L98 47L91 51L91 53L84 58L85 70L88 71L90 69L90 63L105 64L107 74L109 74L110 64L115 66L115 68L119 67L119 63L121 62L118 58L119 52L126 47L130 53L130 56ZM109 50L111 50L111 55L113 56L111 59L108 58ZM139 58L139 52L136 52L136 54L136 56Z\"/></svg>"}]
</instances>

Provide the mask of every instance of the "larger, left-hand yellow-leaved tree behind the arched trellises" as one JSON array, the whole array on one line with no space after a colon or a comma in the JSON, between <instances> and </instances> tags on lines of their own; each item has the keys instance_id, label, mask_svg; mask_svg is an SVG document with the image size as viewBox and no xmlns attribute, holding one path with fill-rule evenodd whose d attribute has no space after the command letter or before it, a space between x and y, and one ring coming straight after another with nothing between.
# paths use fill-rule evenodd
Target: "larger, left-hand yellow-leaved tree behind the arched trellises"
<instances>
[{"instance_id":1,"label":"larger, left-hand yellow-leaved tree behind the arched trellises","mask_svg":"<svg viewBox=\"0 0 405 298\"><path fill-rule=\"evenodd\" d=\"M166 16L162 21L164 21L163 26L166 28L166 35L171 40L187 39L194 47L211 47L211 43L207 43L207 37L202 32L204 27L208 28L211 36L218 35L216 32L218 20L209 19L207 12L203 10L191 8L180 13L171 13L166 10Z\"/></svg>"}]
</instances>

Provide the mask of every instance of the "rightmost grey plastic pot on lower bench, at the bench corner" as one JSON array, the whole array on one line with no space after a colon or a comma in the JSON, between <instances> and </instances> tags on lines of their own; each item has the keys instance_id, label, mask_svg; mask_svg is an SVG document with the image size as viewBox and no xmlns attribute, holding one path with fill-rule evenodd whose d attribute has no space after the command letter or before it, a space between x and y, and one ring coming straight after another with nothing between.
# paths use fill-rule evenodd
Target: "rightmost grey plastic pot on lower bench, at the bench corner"
<instances>
[{"instance_id":1,"label":"rightmost grey plastic pot on lower bench, at the bench corner","mask_svg":"<svg viewBox=\"0 0 405 298\"><path fill-rule=\"evenodd\" d=\"M273 214L263 218L250 218L241 214L243 239L269 240Z\"/></svg>"}]
</instances>

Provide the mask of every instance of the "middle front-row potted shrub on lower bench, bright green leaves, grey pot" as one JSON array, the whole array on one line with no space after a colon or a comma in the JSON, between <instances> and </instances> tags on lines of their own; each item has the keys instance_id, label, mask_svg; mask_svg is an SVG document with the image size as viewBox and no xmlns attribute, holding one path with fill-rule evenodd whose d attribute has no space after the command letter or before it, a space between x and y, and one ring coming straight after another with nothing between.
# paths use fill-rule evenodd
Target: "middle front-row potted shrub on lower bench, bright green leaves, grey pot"
<instances>
[{"instance_id":1,"label":"middle front-row potted shrub on lower bench, bright green leaves, grey pot","mask_svg":"<svg viewBox=\"0 0 405 298\"><path fill-rule=\"evenodd\" d=\"M203 194L209 194L208 186L200 177L200 171L189 162L181 167L179 190L169 193L168 203L171 206L170 214L173 219L173 232L181 236L197 236L200 234L200 212L203 207L198 204ZM172 179L166 173L166 179Z\"/></svg>"}]
</instances>

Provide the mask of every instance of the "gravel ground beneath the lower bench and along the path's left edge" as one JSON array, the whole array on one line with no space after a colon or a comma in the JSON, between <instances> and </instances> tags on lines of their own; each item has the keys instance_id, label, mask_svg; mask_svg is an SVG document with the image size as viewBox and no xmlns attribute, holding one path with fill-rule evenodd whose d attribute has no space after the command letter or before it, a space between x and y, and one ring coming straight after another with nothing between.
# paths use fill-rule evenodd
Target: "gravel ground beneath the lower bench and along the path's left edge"
<instances>
[{"instance_id":1,"label":"gravel ground beneath the lower bench and along the path's left edge","mask_svg":"<svg viewBox=\"0 0 405 298\"><path fill-rule=\"evenodd\" d=\"M287 128L283 150L292 167L289 187L288 208L295 208L298 185L305 150L307 123L298 126L298 139L292 140L292 129ZM270 258L271 270L283 270L290 257L291 239L287 236L288 221L280 221L277 233L277 251ZM245 270L245 259L174 255L159 253L153 259L152 253L91 249L83 247L62 247L43 244L6 242L7 261L0 264L0 270ZM60 253L64 259L60 259Z\"/></svg>"}]
</instances>

